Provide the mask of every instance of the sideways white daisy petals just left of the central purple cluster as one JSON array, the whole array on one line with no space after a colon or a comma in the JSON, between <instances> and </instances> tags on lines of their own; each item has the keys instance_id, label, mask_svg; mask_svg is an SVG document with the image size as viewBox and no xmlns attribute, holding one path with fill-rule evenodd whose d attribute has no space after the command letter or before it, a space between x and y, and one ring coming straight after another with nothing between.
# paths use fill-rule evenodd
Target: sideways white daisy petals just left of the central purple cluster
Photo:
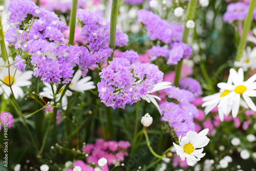
<instances>
[{"instance_id":1,"label":"sideways white daisy petals just left of the central purple cluster","mask_svg":"<svg viewBox=\"0 0 256 171\"><path fill-rule=\"evenodd\" d=\"M91 89L96 88L94 86L94 82L89 81L90 79L92 79L92 77L87 76L87 77L84 77L84 78L80 79L81 76L82 76L81 70L77 70L77 72L75 73L75 75L74 75L74 77L73 77L73 79L70 83L70 86L69 86L69 88L71 90L83 93L86 90L91 90Z\"/></svg>"}]
</instances>

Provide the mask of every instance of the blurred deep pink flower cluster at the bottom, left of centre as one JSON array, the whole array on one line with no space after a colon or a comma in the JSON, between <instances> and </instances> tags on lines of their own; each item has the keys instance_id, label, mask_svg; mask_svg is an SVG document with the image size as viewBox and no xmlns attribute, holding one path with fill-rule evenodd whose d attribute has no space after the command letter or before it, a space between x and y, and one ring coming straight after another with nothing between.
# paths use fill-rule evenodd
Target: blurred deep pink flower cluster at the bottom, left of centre
<instances>
[{"instance_id":1,"label":"blurred deep pink flower cluster at the bottom, left of centre","mask_svg":"<svg viewBox=\"0 0 256 171\"><path fill-rule=\"evenodd\" d=\"M98 163L98 160L104 157L110 166L116 164L118 159L122 162L124 156L128 156L127 148L130 146L128 141L117 142L97 139L95 144L86 144L82 150L89 155L86 159L87 163Z\"/></svg>"}]
</instances>

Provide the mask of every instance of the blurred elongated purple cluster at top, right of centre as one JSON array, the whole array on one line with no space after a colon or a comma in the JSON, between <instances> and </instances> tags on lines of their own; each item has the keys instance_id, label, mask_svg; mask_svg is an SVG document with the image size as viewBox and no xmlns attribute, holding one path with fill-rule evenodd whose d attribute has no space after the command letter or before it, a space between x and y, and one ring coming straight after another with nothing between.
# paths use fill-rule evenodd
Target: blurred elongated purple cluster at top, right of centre
<instances>
[{"instance_id":1,"label":"blurred elongated purple cluster at top, right of centre","mask_svg":"<svg viewBox=\"0 0 256 171\"><path fill-rule=\"evenodd\" d=\"M165 44L173 41L181 41L183 26L175 23L168 23L157 14L141 9L138 11L138 22L145 25L147 36L151 40L162 40Z\"/></svg>"}]
</instances>

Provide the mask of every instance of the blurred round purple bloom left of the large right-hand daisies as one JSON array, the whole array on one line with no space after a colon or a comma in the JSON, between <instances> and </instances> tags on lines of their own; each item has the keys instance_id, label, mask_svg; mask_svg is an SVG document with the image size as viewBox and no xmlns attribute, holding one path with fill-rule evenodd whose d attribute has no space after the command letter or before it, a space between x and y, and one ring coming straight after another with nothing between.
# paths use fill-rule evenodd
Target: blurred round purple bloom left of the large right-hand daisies
<instances>
[{"instance_id":1,"label":"blurred round purple bloom left of the large right-hand daisies","mask_svg":"<svg viewBox=\"0 0 256 171\"><path fill-rule=\"evenodd\" d=\"M191 78L191 77L183 78L182 80L180 80L179 86L182 89L186 89L186 90L192 92L194 94L195 98L202 95L201 85L194 78Z\"/></svg>"}]
</instances>

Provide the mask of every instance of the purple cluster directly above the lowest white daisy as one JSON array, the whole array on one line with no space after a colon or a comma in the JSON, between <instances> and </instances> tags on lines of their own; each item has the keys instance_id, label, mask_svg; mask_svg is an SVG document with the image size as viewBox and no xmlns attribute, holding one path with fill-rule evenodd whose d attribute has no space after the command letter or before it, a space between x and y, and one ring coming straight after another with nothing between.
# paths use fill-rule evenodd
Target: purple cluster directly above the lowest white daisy
<instances>
[{"instance_id":1,"label":"purple cluster directly above the lowest white daisy","mask_svg":"<svg viewBox=\"0 0 256 171\"><path fill-rule=\"evenodd\" d=\"M159 106L162 111L162 120L168 122L179 136L185 136L188 131L195 131L193 116L173 102L164 102Z\"/></svg>"}]
</instances>

